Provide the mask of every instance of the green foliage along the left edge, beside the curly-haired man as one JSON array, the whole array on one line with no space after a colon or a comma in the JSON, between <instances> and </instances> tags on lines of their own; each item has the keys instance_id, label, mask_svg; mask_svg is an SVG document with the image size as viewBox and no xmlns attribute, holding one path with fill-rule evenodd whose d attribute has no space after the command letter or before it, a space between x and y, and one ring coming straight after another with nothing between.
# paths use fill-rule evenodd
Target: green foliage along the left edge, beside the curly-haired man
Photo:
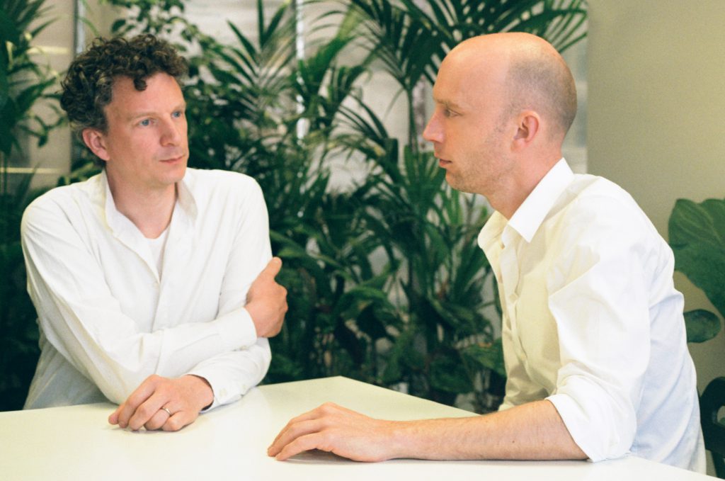
<instances>
[{"instance_id":1,"label":"green foliage along the left edge, beside the curly-haired man","mask_svg":"<svg viewBox=\"0 0 725 481\"><path fill-rule=\"evenodd\" d=\"M49 12L44 3L0 0L0 410L22 408L38 358L36 312L25 292L20 220L39 192L30 189L32 174L11 175L10 167L12 159L23 160L23 139L35 138L42 145L62 122L59 115L48 120L33 111L38 102L54 100L49 90L56 81L31 45L50 23L43 21Z\"/></svg>"}]
</instances>

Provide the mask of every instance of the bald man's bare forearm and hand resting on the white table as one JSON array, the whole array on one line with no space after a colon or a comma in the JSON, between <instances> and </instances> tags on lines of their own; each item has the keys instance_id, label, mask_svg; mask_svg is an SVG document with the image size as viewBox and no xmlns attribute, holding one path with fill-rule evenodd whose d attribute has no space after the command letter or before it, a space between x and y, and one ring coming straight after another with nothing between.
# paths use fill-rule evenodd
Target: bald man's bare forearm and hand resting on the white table
<instances>
[{"instance_id":1,"label":"bald man's bare forearm and hand resting on the white table","mask_svg":"<svg viewBox=\"0 0 725 481\"><path fill-rule=\"evenodd\" d=\"M325 403L281 430L268 456L319 449L354 461L587 459L549 400L462 418L383 421Z\"/></svg>"}]
</instances>

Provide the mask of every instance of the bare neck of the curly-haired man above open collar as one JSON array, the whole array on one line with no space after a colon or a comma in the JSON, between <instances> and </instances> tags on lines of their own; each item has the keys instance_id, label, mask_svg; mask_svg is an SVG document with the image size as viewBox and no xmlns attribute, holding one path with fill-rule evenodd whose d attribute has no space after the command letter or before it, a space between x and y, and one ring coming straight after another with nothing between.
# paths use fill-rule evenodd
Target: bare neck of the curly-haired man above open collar
<instances>
[{"instance_id":1,"label":"bare neck of the curly-haired man above open collar","mask_svg":"<svg viewBox=\"0 0 725 481\"><path fill-rule=\"evenodd\" d=\"M116 185L115 185L116 184ZM151 192L124 189L108 178L116 209L138 227L147 239L156 239L169 226L176 203L176 186Z\"/></svg>"}]
</instances>

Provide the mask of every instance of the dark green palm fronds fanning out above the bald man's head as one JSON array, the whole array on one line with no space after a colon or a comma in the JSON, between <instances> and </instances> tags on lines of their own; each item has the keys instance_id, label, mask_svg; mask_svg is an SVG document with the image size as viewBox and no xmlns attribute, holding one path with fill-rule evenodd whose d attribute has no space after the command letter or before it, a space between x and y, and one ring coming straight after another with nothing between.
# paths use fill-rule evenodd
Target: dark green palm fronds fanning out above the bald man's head
<instances>
[{"instance_id":1,"label":"dark green palm fronds fanning out above the bald man's head","mask_svg":"<svg viewBox=\"0 0 725 481\"><path fill-rule=\"evenodd\" d=\"M413 91L421 81L434 82L450 49L471 36L524 31L563 52L586 36L585 7L584 0L349 0L346 12L357 22L363 47L405 94L407 145L415 152L420 132Z\"/></svg>"}]
</instances>

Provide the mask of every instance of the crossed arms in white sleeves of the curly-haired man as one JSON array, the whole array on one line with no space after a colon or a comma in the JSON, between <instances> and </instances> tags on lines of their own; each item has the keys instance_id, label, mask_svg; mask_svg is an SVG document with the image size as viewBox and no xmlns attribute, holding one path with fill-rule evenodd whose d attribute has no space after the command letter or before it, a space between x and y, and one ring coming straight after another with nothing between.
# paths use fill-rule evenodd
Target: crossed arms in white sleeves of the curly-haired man
<instances>
[{"instance_id":1,"label":"crossed arms in white sleeves of the curly-haired man","mask_svg":"<svg viewBox=\"0 0 725 481\"><path fill-rule=\"evenodd\" d=\"M153 375L169 381L183 377L202 380L201 385L196 383L202 389L194 390L202 392L194 396L199 398L200 408L238 399L264 377L270 350L262 337L278 332L286 310L286 293L274 281L274 273L268 273L258 289L250 288L270 258L270 247L258 187L244 202L249 213L239 215L241 221L235 226L237 235L223 273L217 317L204 322L191 319L152 332L126 315L114 297L103 270L108 266L101 267L104 256L94 247L94 233L83 230L85 218L72 217L75 211L66 213L52 202L28 209L22 240L29 291L49 342L116 403L144 391L142 385L148 385L146 381ZM279 260L272 264L273 271L278 271ZM121 272L125 275L123 269ZM190 280L192 286L199 281ZM144 302L149 287L128 284L133 295ZM192 297L196 292L191 291ZM256 310L256 318L250 316L245 303ZM210 390L211 403L207 402Z\"/></svg>"}]
</instances>

